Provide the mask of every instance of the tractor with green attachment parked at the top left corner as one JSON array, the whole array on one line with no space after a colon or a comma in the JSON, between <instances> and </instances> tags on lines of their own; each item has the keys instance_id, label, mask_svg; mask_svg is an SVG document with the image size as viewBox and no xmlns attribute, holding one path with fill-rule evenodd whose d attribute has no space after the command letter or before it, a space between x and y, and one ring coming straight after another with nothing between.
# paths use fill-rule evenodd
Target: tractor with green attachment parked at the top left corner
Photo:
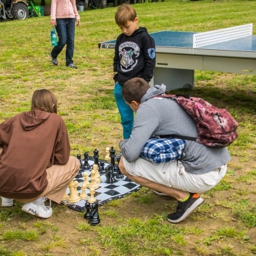
<instances>
[{"instance_id":1,"label":"tractor with green attachment parked at the top left corner","mask_svg":"<svg viewBox=\"0 0 256 256\"><path fill-rule=\"evenodd\" d=\"M28 17L41 16L39 6L26 0L0 0L0 20L24 20Z\"/></svg>"}]
</instances>

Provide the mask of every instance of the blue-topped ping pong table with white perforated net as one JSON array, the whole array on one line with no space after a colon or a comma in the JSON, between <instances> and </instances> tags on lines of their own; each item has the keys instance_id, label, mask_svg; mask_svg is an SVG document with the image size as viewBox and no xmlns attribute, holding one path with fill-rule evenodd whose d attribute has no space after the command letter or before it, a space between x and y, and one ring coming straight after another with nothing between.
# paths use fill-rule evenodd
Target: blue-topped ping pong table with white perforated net
<instances>
[{"instance_id":1,"label":"blue-topped ping pong table with white perforated net","mask_svg":"<svg viewBox=\"0 0 256 256\"><path fill-rule=\"evenodd\" d=\"M256 35L252 24L211 32L161 31L150 33L156 43L156 68L150 85L167 91L194 87L194 70L256 74ZM98 43L114 49L116 40Z\"/></svg>"}]
</instances>

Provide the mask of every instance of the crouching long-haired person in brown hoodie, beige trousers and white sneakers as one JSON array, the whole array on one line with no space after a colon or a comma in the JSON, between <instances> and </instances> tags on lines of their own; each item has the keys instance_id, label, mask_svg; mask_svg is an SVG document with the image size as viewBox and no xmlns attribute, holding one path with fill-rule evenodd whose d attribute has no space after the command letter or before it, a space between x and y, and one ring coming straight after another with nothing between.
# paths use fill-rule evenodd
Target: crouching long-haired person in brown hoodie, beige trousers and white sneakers
<instances>
[{"instance_id":1,"label":"crouching long-haired person in brown hoodie, beige trousers and white sneakers","mask_svg":"<svg viewBox=\"0 0 256 256\"><path fill-rule=\"evenodd\" d=\"M80 163L70 156L70 141L58 116L56 97L46 89L33 93L32 108L0 123L0 196L3 207L24 203L37 217L53 214ZM46 199L50 205L45 205Z\"/></svg>"}]
</instances>

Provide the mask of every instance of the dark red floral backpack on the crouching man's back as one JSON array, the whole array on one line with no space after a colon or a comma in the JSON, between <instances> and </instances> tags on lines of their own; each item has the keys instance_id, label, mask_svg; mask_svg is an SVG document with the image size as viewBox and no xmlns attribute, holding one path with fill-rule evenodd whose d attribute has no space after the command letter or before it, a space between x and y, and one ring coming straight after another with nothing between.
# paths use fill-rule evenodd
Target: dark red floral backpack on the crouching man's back
<instances>
[{"instance_id":1,"label":"dark red floral backpack on the crouching man's back","mask_svg":"<svg viewBox=\"0 0 256 256\"><path fill-rule=\"evenodd\" d=\"M205 146L224 148L238 137L238 122L224 108L219 109L202 98L185 95L158 95L175 100L193 119L198 128L198 137L161 135L177 139L193 140Z\"/></svg>"}]
</instances>

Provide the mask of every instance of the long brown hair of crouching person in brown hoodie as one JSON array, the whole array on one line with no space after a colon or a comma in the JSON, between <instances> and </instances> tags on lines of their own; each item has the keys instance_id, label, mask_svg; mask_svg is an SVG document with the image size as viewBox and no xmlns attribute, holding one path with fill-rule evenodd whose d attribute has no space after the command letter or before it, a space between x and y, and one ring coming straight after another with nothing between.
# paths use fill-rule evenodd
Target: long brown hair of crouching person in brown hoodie
<instances>
[{"instance_id":1,"label":"long brown hair of crouching person in brown hoodie","mask_svg":"<svg viewBox=\"0 0 256 256\"><path fill-rule=\"evenodd\" d=\"M39 108L45 112L57 113L57 99L55 95L47 90L36 90L32 96L31 110Z\"/></svg>"}]
</instances>

